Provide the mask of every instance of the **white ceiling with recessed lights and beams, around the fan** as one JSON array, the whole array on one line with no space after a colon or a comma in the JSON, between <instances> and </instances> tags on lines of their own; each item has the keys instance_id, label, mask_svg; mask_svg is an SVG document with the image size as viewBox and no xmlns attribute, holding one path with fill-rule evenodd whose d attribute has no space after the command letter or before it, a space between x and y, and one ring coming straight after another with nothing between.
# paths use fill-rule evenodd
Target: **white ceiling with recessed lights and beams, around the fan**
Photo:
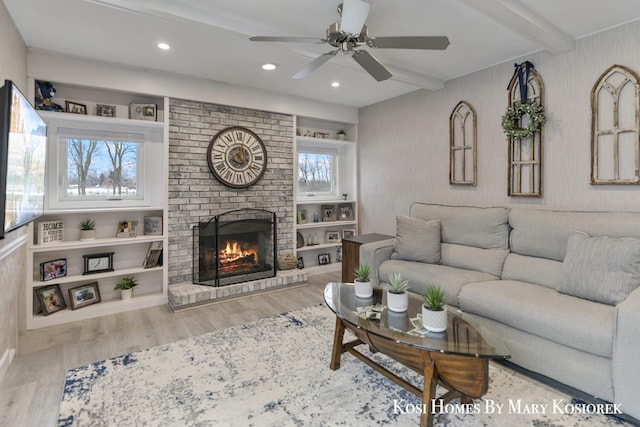
<instances>
[{"instance_id":1,"label":"white ceiling with recessed lights and beams, around the fan","mask_svg":"<svg viewBox=\"0 0 640 427\"><path fill-rule=\"evenodd\" d=\"M27 46L361 107L640 19L638 0L371 0L371 36L446 35L445 51L369 49L393 77L376 82L348 55L291 75L326 44L251 42L325 37L341 0L4 0ZM161 51L156 45L171 45ZM260 65L278 64L265 72ZM36 76L37 77L37 76ZM334 89L333 81L341 86Z\"/></svg>"}]
</instances>

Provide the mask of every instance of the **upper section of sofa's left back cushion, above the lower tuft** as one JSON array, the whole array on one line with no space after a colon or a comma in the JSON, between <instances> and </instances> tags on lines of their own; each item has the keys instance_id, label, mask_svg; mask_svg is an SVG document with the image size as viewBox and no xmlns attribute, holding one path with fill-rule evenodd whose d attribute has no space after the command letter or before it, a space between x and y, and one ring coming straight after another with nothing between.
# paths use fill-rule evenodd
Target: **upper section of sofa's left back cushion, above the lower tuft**
<instances>
[{"instance_id":1,"label":"upper section of sofa's left back cushion, above the lower tuft","mask_svg":"<svg viewBox=\"0 0 640 427\"><path fill-rule=\"evenodd\" d=\"M442 242L483 249L509 247L509 211L503 207L480 208L413 203L410 216L442 221Z\"/></svg>"}]
</instances>

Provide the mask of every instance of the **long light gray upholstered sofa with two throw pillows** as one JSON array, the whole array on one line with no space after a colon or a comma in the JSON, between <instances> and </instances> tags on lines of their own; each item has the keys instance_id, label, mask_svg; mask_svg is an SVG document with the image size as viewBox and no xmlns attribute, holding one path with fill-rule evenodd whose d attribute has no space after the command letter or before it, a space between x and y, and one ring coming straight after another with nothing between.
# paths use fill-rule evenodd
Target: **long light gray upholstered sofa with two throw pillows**
<instances>
[{"instance_id":1,"label":"long light gray upholstered sofa with two throw pillows","mask_svg":"<svg viewBox=\"0 0 640 427\"><path fill-rule=\"evenodd\" d=\"M640 214L414 203L360 247L501 336L510 361L640 419Z\"/></svg>"}]
</instances>

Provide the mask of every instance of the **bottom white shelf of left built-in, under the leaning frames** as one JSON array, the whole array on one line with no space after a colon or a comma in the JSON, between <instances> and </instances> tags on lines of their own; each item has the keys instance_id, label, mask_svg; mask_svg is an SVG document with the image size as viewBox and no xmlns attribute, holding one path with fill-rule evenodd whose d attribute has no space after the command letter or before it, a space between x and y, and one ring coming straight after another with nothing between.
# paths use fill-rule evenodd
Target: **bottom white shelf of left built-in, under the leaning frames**
<instances>
[{"instance_id":1,"label":"bottom white shelf of left built-in, under the leaning frames","mask_svg":"<svg viewBox=\"0 0 640 427\"><path fill-rule=\"evenodd\" d=\"M167 294L163 293L135 296L130 300L113 299L101 301L86 307L72 310L67 307L64 310L52 313L48 316L32 315L27 316L27 329L44 328L46 326L60 325L62 323L77 320L86 320L108 314L122 313L124 311L137 310L139 308L153 307L168 303Z\"/></svg>"}]
</instances>

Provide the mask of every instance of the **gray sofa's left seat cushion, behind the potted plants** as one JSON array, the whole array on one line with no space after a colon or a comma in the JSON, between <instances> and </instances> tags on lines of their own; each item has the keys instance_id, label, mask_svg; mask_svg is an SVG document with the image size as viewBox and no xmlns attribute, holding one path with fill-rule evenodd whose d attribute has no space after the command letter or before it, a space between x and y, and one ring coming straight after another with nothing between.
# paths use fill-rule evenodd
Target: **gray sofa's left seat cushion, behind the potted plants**
<instances>
[{"instance_id":1,"label":"gray sofa's left seat cushion, behind the potted plants","mask_svg":"<svg viewBox=\"0 0 640 427\"><path fill-rule=\"evenodd\" d=\"M379 282L386 282L389 274L392 273L402 273L402 277L411 283L409 291L419 295L424 295L429 285L440 285L444 290L446 303L456 307L458 306L458 294L464 285L497 279L494 275L480 271L392 259L380 264L378 269Z\"/></svg>"}]
</instances>

